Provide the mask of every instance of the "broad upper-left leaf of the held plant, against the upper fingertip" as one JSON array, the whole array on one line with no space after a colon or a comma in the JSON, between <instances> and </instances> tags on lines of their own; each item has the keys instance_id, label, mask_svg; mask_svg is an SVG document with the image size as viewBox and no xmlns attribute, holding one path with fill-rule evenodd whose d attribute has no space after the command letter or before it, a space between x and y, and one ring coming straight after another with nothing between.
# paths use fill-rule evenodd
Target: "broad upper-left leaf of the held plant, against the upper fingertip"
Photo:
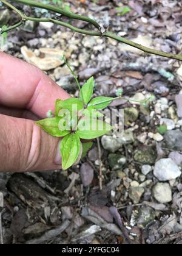
<instances>
[{"instance_id":1,"label":"broad upper-left leaf of the held plant, against the upper fingertip","mask_svg":"<svg viewBox=\"0 0 182 256\"><path fill-rule=\"evenodd\" d=\"M77 98L69 98L64 101L62 101L61 99L57 99L55 116L59 116L59 111L61 109L67 109L72 113L73 110L77 112L78 110L83 109L83 107L84 107L83 102Z\"/></svg>"}]
</instances>

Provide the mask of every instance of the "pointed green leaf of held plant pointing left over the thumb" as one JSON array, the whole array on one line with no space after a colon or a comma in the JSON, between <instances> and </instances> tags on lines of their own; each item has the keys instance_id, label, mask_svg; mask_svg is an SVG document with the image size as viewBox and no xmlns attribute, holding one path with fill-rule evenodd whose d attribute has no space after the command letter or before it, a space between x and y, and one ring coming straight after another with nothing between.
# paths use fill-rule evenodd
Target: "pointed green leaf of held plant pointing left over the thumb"
<instances>
[{"instance_id":1,"label":"pointed green leaf of held plant pointing left over the thumb","mask_svg":"<svg viewBox=\"0 0 182 256\"><path fill-rule=\"evenodd\" d=\"M41 127L45 132L49 133L53 137L64 137L67 134L70 133L69 130L61 130L59 127L59 122L61 121L61 118L55 117L55 118L46 118L42 119L36 124Z\"/></svg>"}]
</instances>

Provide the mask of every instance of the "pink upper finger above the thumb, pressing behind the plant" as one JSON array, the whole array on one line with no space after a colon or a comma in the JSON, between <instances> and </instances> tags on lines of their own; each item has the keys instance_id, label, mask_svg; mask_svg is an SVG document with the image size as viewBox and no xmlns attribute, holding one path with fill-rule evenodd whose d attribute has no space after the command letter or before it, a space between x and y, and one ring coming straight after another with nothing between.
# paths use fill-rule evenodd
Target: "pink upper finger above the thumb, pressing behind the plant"
<instances>
[{"instance_id":1,"label":"pink upper finger above the thumb, pressing behind the plant","mask_svg":"<svg viewBox=\"0 0 182 256\"><path fill-rule=\"evenodd\" d=\"M27 108L46 117L54 112L56 99L70 97L52 79L29 63L0 52L0 103L8 107Z\"/></svg>"}]
</instances>

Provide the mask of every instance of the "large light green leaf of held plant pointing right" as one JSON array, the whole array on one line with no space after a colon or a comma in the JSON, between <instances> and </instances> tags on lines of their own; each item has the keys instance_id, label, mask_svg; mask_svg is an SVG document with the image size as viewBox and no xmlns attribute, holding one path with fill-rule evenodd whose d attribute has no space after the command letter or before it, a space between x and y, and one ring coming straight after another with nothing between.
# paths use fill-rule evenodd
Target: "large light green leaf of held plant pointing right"
<instances>
[{"instance_id":1,"label":"large light green leaf of held plant pointing right","mask_svg":"<svg viewBox=\"0 0 182 256\"><path fill-rule=\"evenodd\" d=\"M99 119L82 118L78 122L76 134L79 138L92 140L108 133L112 127Z\"/></svg>"}]
</instances>

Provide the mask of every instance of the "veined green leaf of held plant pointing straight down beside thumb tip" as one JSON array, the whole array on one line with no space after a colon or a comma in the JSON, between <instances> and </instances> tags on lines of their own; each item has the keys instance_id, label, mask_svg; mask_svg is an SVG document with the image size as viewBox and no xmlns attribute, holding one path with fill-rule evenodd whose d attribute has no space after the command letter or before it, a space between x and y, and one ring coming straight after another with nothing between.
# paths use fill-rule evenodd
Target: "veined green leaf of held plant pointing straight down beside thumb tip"
<instances>
[{"instance_id":1,"label":"veined green leaf of held plant pointing straight down beside thumb tip","mask_svg":"<svg viewBox=\"0 0 182 256\"><path fill-rule=\"evenodd\" d=\"M66 170L72 166L78 159L81 149L81 141L78 135L70 133L64 137L61 141L61 157L62 157L62 169Z\"/></svg>"}]
</instances>

